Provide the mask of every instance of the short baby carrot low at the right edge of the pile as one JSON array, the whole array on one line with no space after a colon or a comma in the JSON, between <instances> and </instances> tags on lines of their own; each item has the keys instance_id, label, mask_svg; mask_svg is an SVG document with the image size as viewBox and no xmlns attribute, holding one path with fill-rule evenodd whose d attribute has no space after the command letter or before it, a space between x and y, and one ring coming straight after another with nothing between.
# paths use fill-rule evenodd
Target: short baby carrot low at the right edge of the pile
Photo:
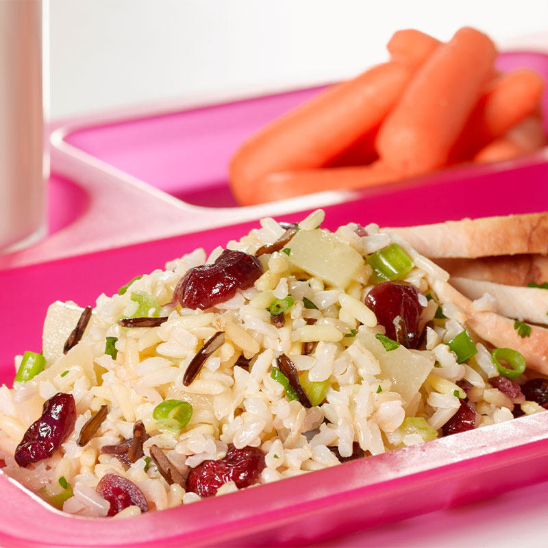
<instances>
[{"instance_id":1,"label":"short baby carrot low at the right edge of the pile","mask_svg":"<svg viewBox=\"0 0 548 548\"><path fill-rule=\"evenodd\" d=\"M479 164L501 162L533 153L545 146L546 134L542 121L536 116L528 116L504 136L478 151L473 161Z\"/></svg>"}]
</instances>

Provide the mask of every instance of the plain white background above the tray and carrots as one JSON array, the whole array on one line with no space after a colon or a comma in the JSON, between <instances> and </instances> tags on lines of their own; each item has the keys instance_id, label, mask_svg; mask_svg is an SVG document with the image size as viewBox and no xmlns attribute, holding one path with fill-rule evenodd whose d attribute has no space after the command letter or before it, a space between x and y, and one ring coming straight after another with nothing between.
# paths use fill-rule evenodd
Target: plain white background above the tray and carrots
<instances>
[{"instance_id":1,"label":"plain white background above the tray and carrots","mask_svg":"<svg viewBox=\"0 0 548 548\"><path fill-rule=\"evenodd\" d=\"M548 0L50 0L50 19L58 119L334 81L384 60L406 27L506 43L548 29Z\"/></svg>"}]
</instances>

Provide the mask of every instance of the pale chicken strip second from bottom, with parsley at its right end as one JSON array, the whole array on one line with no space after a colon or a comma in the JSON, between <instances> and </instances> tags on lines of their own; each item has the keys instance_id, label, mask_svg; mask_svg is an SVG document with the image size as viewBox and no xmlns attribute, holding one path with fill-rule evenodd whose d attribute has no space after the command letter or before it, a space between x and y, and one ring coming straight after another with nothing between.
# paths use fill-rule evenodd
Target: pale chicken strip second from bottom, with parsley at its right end
<instances>
[{"instance_id":1,"label":"pale chicken strip second from bottom, with parsley at its right end","mask_svg":"<svg viewBox=\"0 0 548 548\"><path fill-rule=\"evenodd\" d=\"M506 286L477 279L451 276L451 285L469 299L481 299L485 293L495 298L501 316L519 321L548 325L548 290Z\"/></svg>"}]
</instances>

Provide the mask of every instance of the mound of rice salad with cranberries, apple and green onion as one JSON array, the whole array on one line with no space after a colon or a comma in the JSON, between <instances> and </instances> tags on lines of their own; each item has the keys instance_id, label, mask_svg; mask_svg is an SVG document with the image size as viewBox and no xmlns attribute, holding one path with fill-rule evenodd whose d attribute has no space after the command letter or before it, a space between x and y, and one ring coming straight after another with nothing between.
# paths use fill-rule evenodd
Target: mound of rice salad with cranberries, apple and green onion
<instances>
[{"instance_id":1,"label":"mound of rice salad with cranberries, apple and green onion","mask_svg":"<svg viewBox=\"0 0 548 548\"><path fill-rule=\"evenodd\" d=\"M64 512L133 516L543 410L523 358L438 300L447 272L323 219L263 219L95 308L53 303L0 388L3 472Z\"/></svg>"}]
</instances>

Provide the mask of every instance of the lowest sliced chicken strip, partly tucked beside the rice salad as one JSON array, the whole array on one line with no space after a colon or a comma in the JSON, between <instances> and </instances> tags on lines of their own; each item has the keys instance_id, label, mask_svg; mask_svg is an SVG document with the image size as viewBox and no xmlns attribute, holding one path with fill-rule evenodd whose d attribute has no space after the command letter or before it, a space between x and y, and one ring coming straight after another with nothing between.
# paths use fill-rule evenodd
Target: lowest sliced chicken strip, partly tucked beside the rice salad
<instances>
[{"instance_id":1,"label":"lowest sliced chicken strip, partly tucked beside the rice salad","mask_svg":"<svg viewBox=\"0 0 548 548\"><path fill-rule=\"evenodd\" d=\"M531 327L531 335L521 338L514 320L495 312L477 312L473 302L453 286L439 279L429 279L441 303L453 303L468 316L466 325L494 347L512 348L525 358L527 367L548 375L548 329Z\"/></svg>"}]
</instances>

